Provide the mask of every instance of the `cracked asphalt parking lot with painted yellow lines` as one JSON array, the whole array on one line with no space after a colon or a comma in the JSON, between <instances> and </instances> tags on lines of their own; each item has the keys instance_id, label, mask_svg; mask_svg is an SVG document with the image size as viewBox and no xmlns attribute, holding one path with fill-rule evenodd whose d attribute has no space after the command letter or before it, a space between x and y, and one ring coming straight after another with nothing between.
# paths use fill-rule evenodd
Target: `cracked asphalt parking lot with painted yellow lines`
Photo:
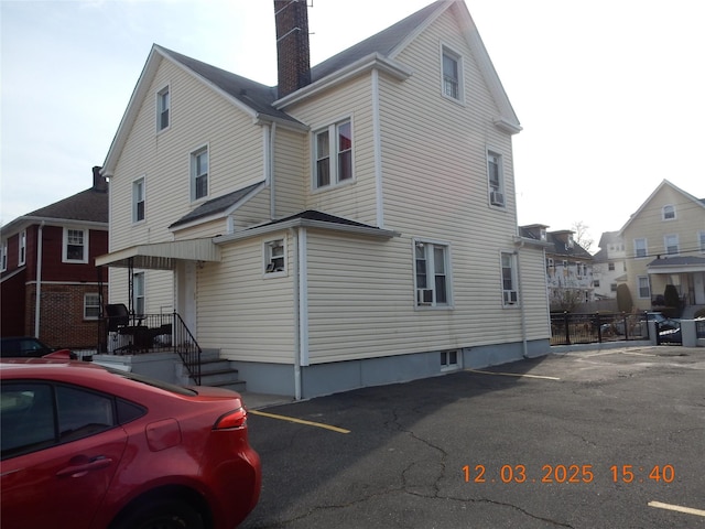
<instances>
[{"instance_id":1,"label":"cracked asphalt parking lot with painted yellow lines","mask_svg":"<svg viewBox=\"0 0 705 529\"><path fill-rule=\"evenodd\" d=\"M705 527L705 348L551 355L269 407L250 441L263 485L243 528Z\"/></svg>"}]
</instances>

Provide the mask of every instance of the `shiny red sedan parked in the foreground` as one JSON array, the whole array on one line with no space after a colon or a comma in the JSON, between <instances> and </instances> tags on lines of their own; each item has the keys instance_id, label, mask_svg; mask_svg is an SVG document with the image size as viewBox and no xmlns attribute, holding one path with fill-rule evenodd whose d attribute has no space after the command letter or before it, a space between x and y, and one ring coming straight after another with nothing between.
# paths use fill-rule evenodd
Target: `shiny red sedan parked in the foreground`
<instances>
[{"instance_id":1,"label":"shiny red sedan parked in the foreground","mask_svg":"<svg viewBox=\"0 0 705 529\"><path fill-rule=\"evenodd\" d=\"M46 358L0 381L3 529L232 529L257 505L235 391Z\"/></svg>"}]
</instances>

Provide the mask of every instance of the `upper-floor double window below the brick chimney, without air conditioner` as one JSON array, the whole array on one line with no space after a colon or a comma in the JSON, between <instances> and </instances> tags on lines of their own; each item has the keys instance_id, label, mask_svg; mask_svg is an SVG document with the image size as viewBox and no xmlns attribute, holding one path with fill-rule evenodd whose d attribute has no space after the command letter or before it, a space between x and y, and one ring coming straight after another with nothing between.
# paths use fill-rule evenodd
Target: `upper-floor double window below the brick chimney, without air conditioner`
<instances>
[{"instance_id":1,"label":"upper-floor double window below the brick chimney, without air conditioner","mask_svg":"<svg viewBox=\"0 0 705 529\"><path fill-rule=\"evenodd\" d=\"M315 134L314 187L352 180L352 126L350 120L332 125Z\"/></svg>"}]
</instances>

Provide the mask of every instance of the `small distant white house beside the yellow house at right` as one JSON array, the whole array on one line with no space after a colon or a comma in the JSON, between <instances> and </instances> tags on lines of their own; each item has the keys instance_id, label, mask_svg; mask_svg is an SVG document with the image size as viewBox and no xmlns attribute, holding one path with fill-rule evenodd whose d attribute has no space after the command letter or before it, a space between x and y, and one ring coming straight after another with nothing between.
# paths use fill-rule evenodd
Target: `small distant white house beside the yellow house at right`
<instances>
[{"instance_id":1,"label":"small distant white house beside the yellow house at right","mask_svg":"<svg viewBox=\"0 0 705 529\"><path fill-rule=\"evenodd\" d=\"M596 299L616 299L619 283L627 282L627 252L619 231L605 231L599 251L593 256L593 287Z\"/></svg>"}]
</instances>

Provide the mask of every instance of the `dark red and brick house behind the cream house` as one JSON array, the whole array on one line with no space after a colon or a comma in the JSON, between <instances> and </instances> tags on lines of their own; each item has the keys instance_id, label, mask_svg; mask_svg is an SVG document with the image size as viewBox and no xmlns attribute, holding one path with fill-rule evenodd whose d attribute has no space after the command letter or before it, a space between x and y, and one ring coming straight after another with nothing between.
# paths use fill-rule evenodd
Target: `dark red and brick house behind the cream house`
<instances>
[{"instance_id":1,"label":"dark red and brick house behind the cream house","mask_svg":"<svg viewBox=\"0 0 705 529\"><path fill-rule=\"evenodd\" d=\"M98 343L108 274L108 183L15 218L0 229L0 333L36 336L55 347ZM102 285L102 292L101 290Z\"/></svg>"}]
</instances>

